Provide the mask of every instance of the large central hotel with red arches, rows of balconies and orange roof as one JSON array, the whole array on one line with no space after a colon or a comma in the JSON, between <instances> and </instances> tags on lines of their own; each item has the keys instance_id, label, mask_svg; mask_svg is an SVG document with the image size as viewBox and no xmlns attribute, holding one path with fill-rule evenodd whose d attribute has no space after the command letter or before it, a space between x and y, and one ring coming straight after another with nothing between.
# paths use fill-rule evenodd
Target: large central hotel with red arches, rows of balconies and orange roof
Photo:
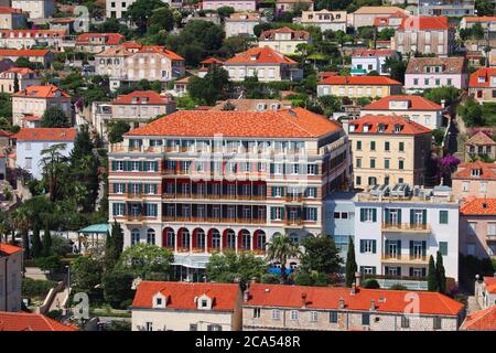
<instances>
[{"instance_id":1,"label":"large central hotel with red arches, rows of balconies and orange roof","mask_svg":"<svg viewBox=\"0 0 496 353\"><path fill-rule=\"evenodd\" d=\"M323 199L352 183L345 131L302 108L176 111L112 145L109 168L125 246L168 247L182 270L226 248L263 255L277 234L320 234Z\"/></svg>"}]
</instances>

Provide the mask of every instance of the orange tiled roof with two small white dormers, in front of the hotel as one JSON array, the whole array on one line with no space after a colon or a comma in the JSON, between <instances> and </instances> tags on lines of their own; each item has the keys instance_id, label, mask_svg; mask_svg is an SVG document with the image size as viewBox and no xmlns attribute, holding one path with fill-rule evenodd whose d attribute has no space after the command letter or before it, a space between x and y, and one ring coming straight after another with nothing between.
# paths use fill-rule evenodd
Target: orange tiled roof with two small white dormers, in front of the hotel
<instances>
[{"instance_id":1,"label":"orange tiled roof with two small white dormers, in front of the hotel","mask_svg":"<svg viewBox=\"0 0 496 353\"><path fill-rule=\"evenodd\" d=\"M138 285L132 308L152 308L153 297L159 292L169 297L166 308L170 309L197 310L195 298L206 295L213 300L213 310L230 311L236 307L240 289L235 284L187 284L143 280Z\"/></svg>"}]
</instances>

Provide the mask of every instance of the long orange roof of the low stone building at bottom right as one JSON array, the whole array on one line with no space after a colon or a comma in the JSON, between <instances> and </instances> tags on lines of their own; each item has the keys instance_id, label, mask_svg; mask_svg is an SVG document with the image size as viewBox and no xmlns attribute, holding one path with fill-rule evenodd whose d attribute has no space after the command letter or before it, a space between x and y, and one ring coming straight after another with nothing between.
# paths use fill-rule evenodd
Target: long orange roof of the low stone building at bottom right
<instances>
[{"instance_id":1,"label":"long orange roof of the low stone building at bottom right","mask_svg":"<svg viewBox=\"0 0 496 353\"><path fill-rule=\"evenodd\" d=\"M339 299L344 299L347 310L369 311L374 300L378 312L405 312L409 301L405 300L411 291L365 289L358 287L352 296L349 288L344 287L305 287L252 284L247 306L301 308L302 296L305 296L306 308L338 309ZM419 311L422 314L457 315L464 306L438 292L416 291L420 299ZM386 299L386 300L381 300Z\"/></svg>"}]
</instances>

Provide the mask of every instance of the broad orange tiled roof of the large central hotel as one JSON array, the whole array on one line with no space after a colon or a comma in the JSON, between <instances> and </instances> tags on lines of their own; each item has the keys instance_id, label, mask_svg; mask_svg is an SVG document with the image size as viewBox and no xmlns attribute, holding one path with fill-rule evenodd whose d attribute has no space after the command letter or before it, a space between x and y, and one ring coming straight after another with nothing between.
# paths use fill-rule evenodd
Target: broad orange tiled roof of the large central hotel
<instances>
[{"instance_id":1,"label":"broad orange tiled roof of the large central hotel","mask_svg":"<svg viewBox=\"0 0 496 353\"><path fill-rule=\"evenodd\" d=\"M303 108L250 113L180 110L126 135L319 138L339 130L338 122Z\"/></svg>"}]
</instances>

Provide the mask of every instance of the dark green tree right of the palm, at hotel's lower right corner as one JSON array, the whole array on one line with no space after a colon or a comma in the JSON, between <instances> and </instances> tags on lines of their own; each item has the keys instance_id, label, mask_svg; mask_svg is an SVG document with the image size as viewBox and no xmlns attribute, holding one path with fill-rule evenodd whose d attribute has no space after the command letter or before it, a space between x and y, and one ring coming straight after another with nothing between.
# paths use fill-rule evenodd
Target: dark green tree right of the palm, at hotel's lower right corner
<instances>
[{"instance_id":1,"label":"dark green tree right of the palm, at hotel's lower right corner","mask_svg":"<svg viewBox=\"0 0 496 353\"><path fill-rule=\"evenodd\" d=\"M310 236L303 239L305 249L301 256L302 270L333 274L339 270L342 259L336 244L327 235Z\"/></svg>"}]
</instances>

